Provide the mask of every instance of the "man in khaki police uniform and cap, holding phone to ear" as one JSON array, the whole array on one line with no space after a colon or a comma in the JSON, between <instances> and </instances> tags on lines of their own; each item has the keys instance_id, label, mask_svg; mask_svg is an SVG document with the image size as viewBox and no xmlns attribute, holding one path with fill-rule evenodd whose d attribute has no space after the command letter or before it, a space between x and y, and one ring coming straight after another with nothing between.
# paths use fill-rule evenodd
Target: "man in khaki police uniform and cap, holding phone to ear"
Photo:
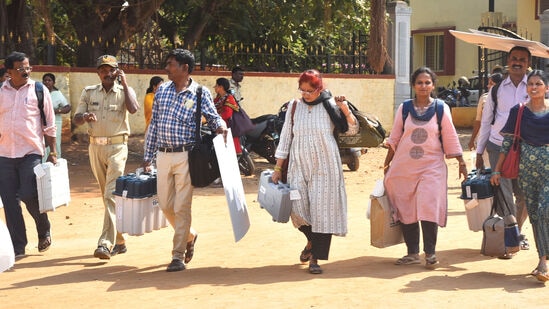
<instances>
[{"instance_id":1,"label":"man in khaki police uniform and cap, holding phone to ear","mask_svg":"<svg viewBox=\"0 0 549 309\"><path fill-rule=\"evenodd\" d=\"M139 104L114 56L104 55L97 59L97 75L101 83L84 88L73 121L76 125L88 123L90 165L105 204L103 231L93 256L110 259L127 251L124 237L116 230L112 192L116 179L124 174L128 158L128 112L135 113ZM120 83L115 82L117 78Z\"/></svg>"}]
</instances>

